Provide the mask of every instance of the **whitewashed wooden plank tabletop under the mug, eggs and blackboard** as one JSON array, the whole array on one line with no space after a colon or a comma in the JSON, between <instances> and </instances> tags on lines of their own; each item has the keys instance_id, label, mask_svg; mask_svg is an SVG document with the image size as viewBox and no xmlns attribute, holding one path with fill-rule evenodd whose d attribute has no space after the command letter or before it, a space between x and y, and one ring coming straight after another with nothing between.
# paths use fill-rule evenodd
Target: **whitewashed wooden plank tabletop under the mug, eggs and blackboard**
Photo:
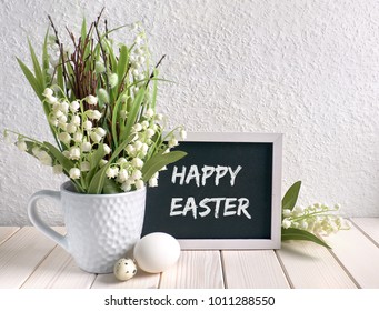
<instances>
[{"instance_id":1,"label":"whitewashed wooden plank tabletop under the mug, eggs and blackboard","mask_svg":"<svg viewBox=\"0 0 379 311\"><path fill-rule=\"evenodd\" d=\"M0 288L60 289L287 289L379 288L379 218L351 219L353 228L328 238L332 250L310 242L280 250L182 251L160 274L81 271L71 257L34 228L0 227Z\"/></svg>"}]
</instances>

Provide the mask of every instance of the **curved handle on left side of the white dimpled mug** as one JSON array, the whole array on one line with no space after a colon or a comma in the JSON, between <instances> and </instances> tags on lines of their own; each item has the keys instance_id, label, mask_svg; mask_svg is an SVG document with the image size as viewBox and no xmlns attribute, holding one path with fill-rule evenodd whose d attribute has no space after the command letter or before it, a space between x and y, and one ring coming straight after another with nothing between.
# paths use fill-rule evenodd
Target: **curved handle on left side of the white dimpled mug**
<instances>
[{"instance_id":1,"label":"curved handle on left side of the white dimpled mug","mask_svg":"<svg viewBox=\"0 0 379 311\"><path fill-rule=\"evenodd\" d=\"M31 223L39 229L43 234L61 245L66 251L69 251L68 240L64 235L52 230L47 225L38 214L37 201L42 198L50 198L60 203L60 192L52 190L41 190L31 195L28 202L28 217Z\"/></svg>"}]
</instances>

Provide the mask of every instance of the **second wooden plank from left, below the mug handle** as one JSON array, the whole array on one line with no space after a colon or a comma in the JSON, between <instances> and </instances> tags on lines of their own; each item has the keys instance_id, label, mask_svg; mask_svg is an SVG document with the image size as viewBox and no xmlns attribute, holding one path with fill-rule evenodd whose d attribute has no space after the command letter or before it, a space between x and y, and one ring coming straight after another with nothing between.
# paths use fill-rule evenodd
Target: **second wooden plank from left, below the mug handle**
<instances>
[{"instance_id":1,"label":"second wooden plank from left, below the mug handle","mask_svg":"<svg viewBox=\"0 0 379 311\"><path fill-rule=\"evenodd\" d=\"M56 243L27 227L0 245L0 288L20 288Z\"/></svg>"}]
</instances>

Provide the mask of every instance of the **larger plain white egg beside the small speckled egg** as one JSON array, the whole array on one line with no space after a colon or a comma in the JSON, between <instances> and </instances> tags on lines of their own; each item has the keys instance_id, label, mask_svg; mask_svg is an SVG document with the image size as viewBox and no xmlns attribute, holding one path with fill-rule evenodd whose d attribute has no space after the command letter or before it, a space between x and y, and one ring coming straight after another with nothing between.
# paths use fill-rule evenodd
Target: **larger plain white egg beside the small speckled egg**
<instances>
[{"instance_id":1,"label":"larger plain white egg beside the small speckled egg","mask_svg":"<svg viewBox=\"0 0 379 311\"><path fill-rule=\"evenodd\" d=\"M140 269L149 273L159 273L177 263L180 245L170 234L154 232L136 243L133 254Z\"/></svg>"}]
</instances>

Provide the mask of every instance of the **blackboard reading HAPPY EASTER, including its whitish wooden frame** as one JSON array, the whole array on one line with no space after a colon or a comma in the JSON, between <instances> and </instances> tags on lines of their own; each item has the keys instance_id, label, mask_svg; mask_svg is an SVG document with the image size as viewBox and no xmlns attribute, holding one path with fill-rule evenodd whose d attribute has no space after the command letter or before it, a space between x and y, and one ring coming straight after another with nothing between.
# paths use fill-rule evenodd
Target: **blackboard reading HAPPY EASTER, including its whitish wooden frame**
<instances>
[{"instance_id":1,"label":"blackboard reading HAPPY EASTER, including its whitish wooden frame","mask_svg":"<svg viewBox=\"0 0 379 311\"><path fill-rule=\"evenodd\" d=\"M281 134L190 133L148 188L142 235L182 249L280 248Z\"/></svg>"}]
</instances>

